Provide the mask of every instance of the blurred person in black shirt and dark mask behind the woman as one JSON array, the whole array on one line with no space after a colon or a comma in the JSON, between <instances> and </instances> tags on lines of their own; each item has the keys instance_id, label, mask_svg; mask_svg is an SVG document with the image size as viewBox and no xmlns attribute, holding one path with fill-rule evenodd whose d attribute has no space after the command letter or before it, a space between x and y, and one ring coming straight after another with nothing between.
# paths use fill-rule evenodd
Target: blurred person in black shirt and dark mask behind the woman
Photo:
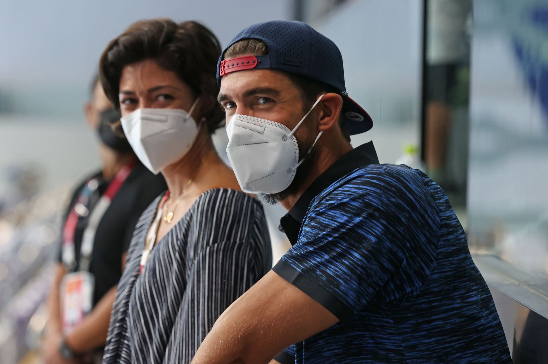
<instances>
[{"instance_id":1,"label":"blurred person in black shirt and dark mask behind the woman","mask_svg":"<svg viewBox=\"0 0 548 364\"><path fill-rule=\"evenodd\" d=\"M101 169L76 187L63 218L61 247L48 298L45 362L96 362L106 342L116 285L142 211L167 186L113 132L119 120L98 81L85 104L98 135Z\"/></svg>"}]
</instances>

